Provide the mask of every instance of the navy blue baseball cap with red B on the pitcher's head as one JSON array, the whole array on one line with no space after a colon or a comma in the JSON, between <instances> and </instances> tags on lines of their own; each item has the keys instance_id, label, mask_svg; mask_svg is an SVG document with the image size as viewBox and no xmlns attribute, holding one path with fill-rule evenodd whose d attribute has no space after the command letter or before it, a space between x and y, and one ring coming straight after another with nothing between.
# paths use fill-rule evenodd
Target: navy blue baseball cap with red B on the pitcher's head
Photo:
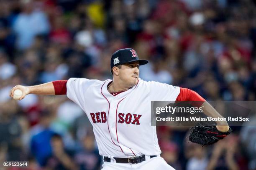
<instances>
[{"instance_id":1,"label":"navy blue baseball cap with red B on the pitcher's head","mask_svg":"<svg viewBox=\"0 0 256 170\"><path fill-rule=\"evenodd\" d=\"M114 66L133 61L138 61L140 65L145 65L148 63L148 60L140 60L135 50L131 48L124 48L113 53L110 66L112 69Z\"/></svg>"}]
</instances>

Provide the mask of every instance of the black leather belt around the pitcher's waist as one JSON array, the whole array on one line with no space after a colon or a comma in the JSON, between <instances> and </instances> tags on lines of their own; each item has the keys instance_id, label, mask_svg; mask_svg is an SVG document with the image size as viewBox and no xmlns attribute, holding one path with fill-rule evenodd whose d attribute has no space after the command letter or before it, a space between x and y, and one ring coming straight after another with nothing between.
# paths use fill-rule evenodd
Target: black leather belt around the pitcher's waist
<instances>
[{"instance_id":1,"label":"black leather belt around the pitcher's waist","mask_svg":"<svg viewBox=\"0 0 256 170\"><path fill-rule=\"evenodd\" d=\"M156 157L156 155L150 156L150 159L154 158L154 157ZM116 158L116 157L114 157L114 159L115 159L116 163L129 163L129 164L141 163L141 162L146 160L145 155L132 156L130 158ZM104 156L103 160L104 160L104 162L108 162L108 163L111 162L111 158L108 158L106 156Z\"/></svg>"}]
</instances>

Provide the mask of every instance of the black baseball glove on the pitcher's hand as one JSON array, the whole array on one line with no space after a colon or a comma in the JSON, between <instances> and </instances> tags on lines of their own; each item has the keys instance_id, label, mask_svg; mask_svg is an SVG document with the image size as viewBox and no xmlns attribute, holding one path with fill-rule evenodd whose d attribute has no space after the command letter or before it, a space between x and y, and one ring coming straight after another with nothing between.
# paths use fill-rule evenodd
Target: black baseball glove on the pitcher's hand
<instances>
[{"instance_id":1,"label":"black baseball glove on the pitcher's hand","mask_svg":"<svg viewBox=\"0 0 256 170\"><path fill-rule=\"evenodd\" d=\"M201 145L212 145L219 140L225 138L228 134L231 133L229 128L228 132L220 132L216 128L216 125L212 126L202 126L198 125L191 128L192 131L189 135L189 141L193 143L198 143Z\"/></svg>"}]
</instances>

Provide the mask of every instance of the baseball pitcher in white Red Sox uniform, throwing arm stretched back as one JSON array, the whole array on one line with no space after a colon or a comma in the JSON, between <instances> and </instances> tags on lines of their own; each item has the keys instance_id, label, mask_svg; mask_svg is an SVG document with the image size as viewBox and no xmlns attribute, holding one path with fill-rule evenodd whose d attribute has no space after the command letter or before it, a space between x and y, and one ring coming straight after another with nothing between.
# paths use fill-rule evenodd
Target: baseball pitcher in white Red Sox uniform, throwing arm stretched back
<instances>
[{"instance_id":1,"label":"baseball pitcher in white Red Sox uniform, throwing arm stretched back","mask_svg":"<svg viewBox=\"0 0 256 170\"><path fill-rule=\"evenodd\" d=\"M139 67L147 63L139 60L135 50L120 49L111 57L113 80L70 78L28 87L16 85L10 97L17 89L22 91L19 100L31 93L67 95L89 117L104 161L102 170L173 170L160 157L156 126L151 126L151 101L202 101L206 115L222 116L192 90L141 80ZM189 139L208 145L230 133L227 122L216 123L207 130L194 130Z\"/></svg>"}]
</instances>

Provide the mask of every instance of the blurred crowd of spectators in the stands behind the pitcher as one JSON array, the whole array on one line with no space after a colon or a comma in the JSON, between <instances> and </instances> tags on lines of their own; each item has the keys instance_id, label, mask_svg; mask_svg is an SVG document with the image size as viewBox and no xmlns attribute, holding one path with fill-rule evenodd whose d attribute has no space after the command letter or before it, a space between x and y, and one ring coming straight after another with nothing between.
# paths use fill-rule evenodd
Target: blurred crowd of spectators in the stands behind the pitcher
<instances>
[{"instance_id":1,"label":"blurred crowd of spectators in the stands behind the pitcher","mask_svg":"<svg viewBox=\"0 0 256 170\"><path fill-rule=\"evenodd\" d=\"M64 95L15 101L9 90L112 79L111 55L125 47L150 61L143 80L206 100L256 100L255 0L0 0L0 162L99 170L92 126L77 105ZM256 170L256 127L234 127L211 147L187 143L187 130L158 127L161 156L175 169Z\"/></svg>"}]
</instances>

